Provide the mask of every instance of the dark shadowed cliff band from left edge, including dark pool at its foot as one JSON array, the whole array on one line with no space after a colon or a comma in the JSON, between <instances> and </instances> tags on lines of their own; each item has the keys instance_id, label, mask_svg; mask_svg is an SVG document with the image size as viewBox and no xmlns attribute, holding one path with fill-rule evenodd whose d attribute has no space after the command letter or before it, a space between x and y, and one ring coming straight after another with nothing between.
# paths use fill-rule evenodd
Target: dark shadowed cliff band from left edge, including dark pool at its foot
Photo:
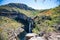
<instances>
[{"instance_id":1,"label":"dark shadowed cliff band from left edge, including dark pool at its foot","mask_svg":"<svg viewBox=\"0 0 60 40\"><path fill-rule=\"evenodd\" d=\"M18 38L23 40L26 33L29 33L29 24L30 24L30 27L31 27L31 32L32 32L32 29L34 28L34 21L33 19L31 19L30 17L27 17L25 14L23 13L0 13L0 16L5 16L5 17L8 17L11 16L11 17L14 17L14 20L16 20L17 22L20 22L24 25L23 29L24 31L21 32L19 35L18 35Z\"/></svg>"}]
</instances>

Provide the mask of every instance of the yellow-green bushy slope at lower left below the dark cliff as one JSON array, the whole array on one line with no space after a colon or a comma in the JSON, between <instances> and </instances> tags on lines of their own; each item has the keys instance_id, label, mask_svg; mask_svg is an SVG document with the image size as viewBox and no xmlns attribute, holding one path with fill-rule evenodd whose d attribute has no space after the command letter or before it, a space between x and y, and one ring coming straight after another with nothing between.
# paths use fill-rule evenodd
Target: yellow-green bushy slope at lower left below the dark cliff
<instances>
[{"instance_id":1,"label":"yellow-green bushy slope at lower left below the dark cliff","mask_svg":"<svg viewBox=\"0 0 60 40\"><path fill-rule=\"evenodd\" d=\"M20 32L23 32L24 30L21 27L23 27L21 23L8 17L0 16L0 40L9 40L12 34L11 37L15 36L14 32L16 32L18 28L21 29Z\"/></svg>"}]
</instances>

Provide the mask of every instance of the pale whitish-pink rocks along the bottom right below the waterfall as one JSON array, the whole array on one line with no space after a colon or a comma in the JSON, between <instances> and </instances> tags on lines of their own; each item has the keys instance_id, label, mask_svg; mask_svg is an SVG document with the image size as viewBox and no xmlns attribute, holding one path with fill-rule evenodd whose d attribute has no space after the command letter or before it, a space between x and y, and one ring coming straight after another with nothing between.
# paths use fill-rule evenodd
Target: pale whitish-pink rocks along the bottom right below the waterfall
<instances>
[{"instance_id":1,"label":"pale whitish-pink rocks along the bottom right below the waterfall","mask_svg":"<svg viewBox=\"0 0 60 40\"><path fill-rule=\"evenodd\" d=\"M37 34L27 34L30 37L28 40L60 40L60 33L51 32L46 33L43 36L39 36Z\"/></svg>"}]
</instances>

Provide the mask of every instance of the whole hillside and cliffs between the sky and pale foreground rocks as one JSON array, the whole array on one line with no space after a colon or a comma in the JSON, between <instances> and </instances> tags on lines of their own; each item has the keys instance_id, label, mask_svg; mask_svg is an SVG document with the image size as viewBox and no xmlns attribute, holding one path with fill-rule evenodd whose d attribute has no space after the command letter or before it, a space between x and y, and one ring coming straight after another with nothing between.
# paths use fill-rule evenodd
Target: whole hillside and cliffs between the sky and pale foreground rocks
<instances>
[{"instance_id":1,"label":"whole hillside and cliffs between the sky and pale foreground rocks","mask_svg":"<svg viewBox=\"0 0 60 40\"><path fill-rule=\"evenodd\" d=\"M60 6L46 10L36 10L21 3L0 6L1 40L8 40L8 34L11 35L13 32L13 36L15 32L18 32L18 34L16 33L18 36L22 34L19 38L23 39L23 36L29 33L29 27L33 33L37 34L40 32L59 32ZM18 29L21 30L16 31Z\"/></svg>"}]
</instances>

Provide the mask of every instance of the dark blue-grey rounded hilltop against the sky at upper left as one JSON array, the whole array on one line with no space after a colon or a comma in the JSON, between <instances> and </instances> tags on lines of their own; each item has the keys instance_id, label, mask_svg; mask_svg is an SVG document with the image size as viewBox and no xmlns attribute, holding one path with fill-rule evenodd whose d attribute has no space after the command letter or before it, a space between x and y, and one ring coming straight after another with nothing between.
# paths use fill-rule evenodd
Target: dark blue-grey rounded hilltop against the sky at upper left
<instances>
[{"instance_id":1,"label":"dark blue-grey rounded hilltop against the sky at upper left","mask_svg":"<svg viewBox=\"0 0 60 40\"><path fill-rule=\"evenodd\" d=\"M24 10L35 10L31 7L28 7L26 4L22 4L22 3L9 3L4 6L20 8L20 9L24 9Z\"/></svg>"}]
</instances>

